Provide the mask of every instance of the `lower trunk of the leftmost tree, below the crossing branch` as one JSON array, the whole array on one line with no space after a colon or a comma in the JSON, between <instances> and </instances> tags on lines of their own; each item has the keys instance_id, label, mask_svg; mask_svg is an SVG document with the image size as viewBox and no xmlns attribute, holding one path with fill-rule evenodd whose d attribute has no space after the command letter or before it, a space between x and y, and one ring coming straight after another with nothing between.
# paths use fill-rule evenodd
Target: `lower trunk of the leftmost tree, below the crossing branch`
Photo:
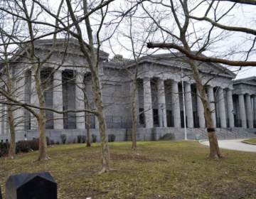
<instances>
[{"instance_id":1,"label":"lower trunk of the leftmost tree, below the crossing branch","mask_svg":"<svg viewBox=\"0 0 256 199\"><path fill-rule=\"evenodd\" d=\"M16 157L15 127L14 127L14 117L13 117L11 105L8 105L8 120L9 120L10 134L11 134L8 158L15 158Z\"/></svg>"}]
</instances>

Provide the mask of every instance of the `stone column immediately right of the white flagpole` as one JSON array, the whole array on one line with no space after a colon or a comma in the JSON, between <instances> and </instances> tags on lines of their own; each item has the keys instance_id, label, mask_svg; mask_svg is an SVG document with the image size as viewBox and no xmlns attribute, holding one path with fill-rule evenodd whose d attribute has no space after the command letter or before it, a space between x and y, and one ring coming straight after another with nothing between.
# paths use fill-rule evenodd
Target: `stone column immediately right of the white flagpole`
<instances>
[{"instance_id":1,"label":"stone column immediately right of the white flagpole","mask_svg":"<svg viewBox=\"0 0 256 199\"><path fill-rule=\"evenodd\" d=\"M185 107L188 128L193 128L193 104L191 96L191 83L185 85Z\"/></svg>"}]
</instances>

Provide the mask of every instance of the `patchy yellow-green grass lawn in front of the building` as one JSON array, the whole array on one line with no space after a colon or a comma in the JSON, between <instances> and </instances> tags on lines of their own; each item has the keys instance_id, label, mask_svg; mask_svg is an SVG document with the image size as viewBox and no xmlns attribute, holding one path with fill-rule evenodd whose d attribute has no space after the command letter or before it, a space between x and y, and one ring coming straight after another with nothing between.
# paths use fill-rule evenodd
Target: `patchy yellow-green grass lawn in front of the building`
<instances>
[{"instance_id":1,"label":"patchy yellow-green grass lawn in front of the building","mask_svg":"<svg viewBox=\"0 0 256 199\"><path fill-rule=\"evenodd\" d=\"M222 149L225 158L209 160L198 141L110 143L112 167L100 171L100 144L48 147L50 161L35 161L37 151L0 158L0 183L22 172L49 171L58 198L256 198L256 153ZM5 196L4 196L5 198Z\"/></svg>"}]
</instances>

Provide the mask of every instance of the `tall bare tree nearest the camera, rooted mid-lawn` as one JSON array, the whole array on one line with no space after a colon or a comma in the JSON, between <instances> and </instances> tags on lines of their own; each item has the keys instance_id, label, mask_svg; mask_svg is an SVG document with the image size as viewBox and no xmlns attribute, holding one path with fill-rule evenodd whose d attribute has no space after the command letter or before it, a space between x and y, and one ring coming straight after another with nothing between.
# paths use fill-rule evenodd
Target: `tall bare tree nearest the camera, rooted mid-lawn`
<instances>
[{"instance_id":1,"label":"tall bare tree nearest the camera, rooted mid-lawn","mask_svg":"<svg viewBox=\"0 0 256 199\"><path fill-rule=\"evenodd\" d=\"M92 75L92 87L95 94L95 107L96 110L92 113L95 114L99 121L100 126L100 142L101 142L101 158L102 158L102 169L99 173L107 172L107 171L113 171L113 169L110 166L110 149L108 145L107 140L107 127L105 123L105 114L104 114L104 107L102 102L102 91L101 91L101 85L100 85L100 77L98 72L98 65L99 65L99 54L100 54L100 30L102 28L102 24L105 20L105 17L107 15L108 11L108 4L110 4L111 1L106 1L98 4L95 6L95 10L99 9L101 13L101 19L100 19L100 26L97 30L96 34L96 42L97 42L97 49L95 50L95 39L92 35L92 27L90 24L90 17L89 17L89 11L88 11L88 4L89 2L84 0L82 1L82 4L78 4L82 7L82 18L84 18L83 22L85 22L86 30L87 30L87 40L88 43L83 39L82 29L80 27L80 24L78 23L78 18L75 16L75 9L74 4L66 0L67 6L68 6L68 12L70 14L70 18L75 23L75 32L73 32L73 36L78 39L80 43L80 50L85 56L88 68L90 69L91 75ZM105 7L105 10L103 8Z\"/></svg>"}]
</instances>

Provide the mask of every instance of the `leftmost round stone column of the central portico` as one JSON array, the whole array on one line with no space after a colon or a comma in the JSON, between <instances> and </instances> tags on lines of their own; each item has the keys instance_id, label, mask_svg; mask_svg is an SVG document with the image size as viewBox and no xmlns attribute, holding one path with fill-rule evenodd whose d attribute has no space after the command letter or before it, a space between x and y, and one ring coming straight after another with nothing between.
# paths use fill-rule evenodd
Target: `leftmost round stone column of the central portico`
<instances>
[{"instance_id":1,"label":"leftmost round stone column of the central portico","mask_svg":"<svg viewBox=\"0 0 256 199\"><path fill-rule=\"evenodd\" d=\"M152 98L150 78L143 78L143 93L144 93L144 119L146 128L153 127L153 113L152 113Z\"/></svg>"}]
</instances>

